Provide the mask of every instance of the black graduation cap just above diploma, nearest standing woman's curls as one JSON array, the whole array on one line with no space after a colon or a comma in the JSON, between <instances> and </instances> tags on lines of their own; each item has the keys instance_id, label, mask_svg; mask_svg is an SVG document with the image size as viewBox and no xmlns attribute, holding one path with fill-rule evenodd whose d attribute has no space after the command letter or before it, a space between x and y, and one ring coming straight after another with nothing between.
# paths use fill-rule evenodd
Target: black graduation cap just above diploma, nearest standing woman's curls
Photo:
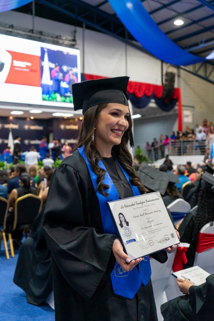
<instances>
[{"instance_id":1,"label":"black graduation cap just above diploma, nearest standing woman's curls","mask_svg":"<svg viewBox=\"0 0 214 321\"><path fill-rule=\"evenodd\" d=\"M167 173L161 172L146 163L141 163L137 173L145 187L154 192L159 191L161 195L165 194L169 182Z\"/></svg>"}]
</instances>

